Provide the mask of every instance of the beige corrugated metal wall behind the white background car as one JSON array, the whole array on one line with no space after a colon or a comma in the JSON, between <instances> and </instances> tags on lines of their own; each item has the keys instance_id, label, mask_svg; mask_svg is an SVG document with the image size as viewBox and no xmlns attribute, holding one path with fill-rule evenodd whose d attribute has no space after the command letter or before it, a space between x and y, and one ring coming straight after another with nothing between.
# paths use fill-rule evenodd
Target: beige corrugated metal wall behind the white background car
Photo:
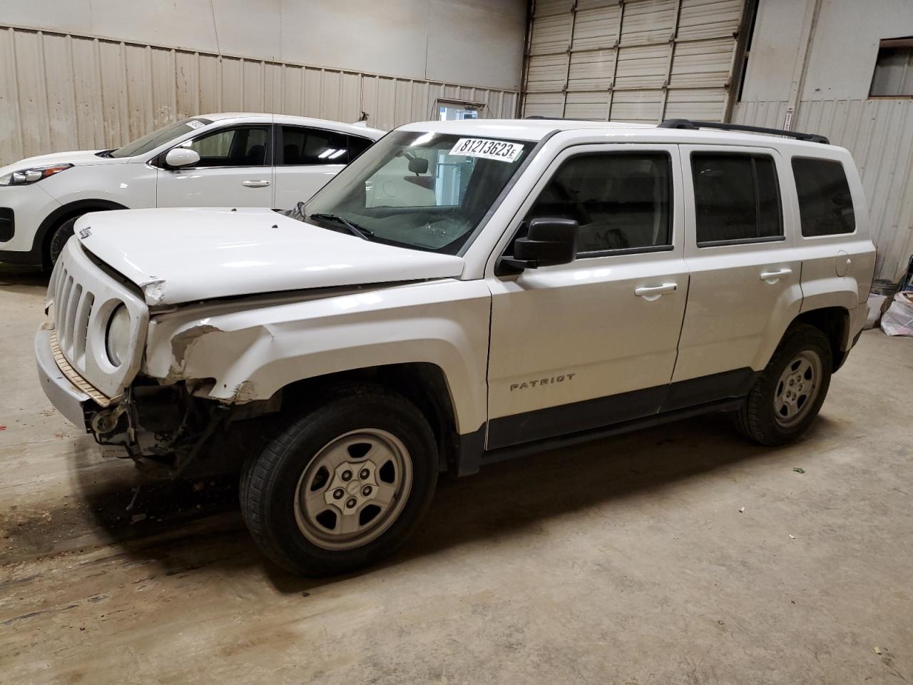
<instances>
[{"instance_id":1,"label":"beige corrugated metal wall behind the white background car","mask_svg":"<svg viewBox=\"0 0 913 685\"><path fill-rule=\"evenodd\" d=\"M0 26L0 164L121 145L170 121L268 111L391 129L436 100L516 115L519 94Z\"/></svg>"}]
</instances>

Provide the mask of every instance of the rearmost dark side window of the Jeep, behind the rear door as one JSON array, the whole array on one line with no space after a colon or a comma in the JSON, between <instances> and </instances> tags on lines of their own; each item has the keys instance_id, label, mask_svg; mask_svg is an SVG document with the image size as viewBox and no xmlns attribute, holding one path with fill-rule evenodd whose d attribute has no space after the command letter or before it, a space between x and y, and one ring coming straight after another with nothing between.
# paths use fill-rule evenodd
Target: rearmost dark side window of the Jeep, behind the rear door
<instances>
[{"instance_id":1,"label":"rearmost dark side window of the Jeep, behind the rear door","mask_svg":"<svg viewBox=\"0 0 913 685\"><path fill-rule=\"evenodd\" d=\"M834 160L792 158L799 194L802 235L833 236L855 231L855 214L844 165Z\"/></svg>"}]
</instances>

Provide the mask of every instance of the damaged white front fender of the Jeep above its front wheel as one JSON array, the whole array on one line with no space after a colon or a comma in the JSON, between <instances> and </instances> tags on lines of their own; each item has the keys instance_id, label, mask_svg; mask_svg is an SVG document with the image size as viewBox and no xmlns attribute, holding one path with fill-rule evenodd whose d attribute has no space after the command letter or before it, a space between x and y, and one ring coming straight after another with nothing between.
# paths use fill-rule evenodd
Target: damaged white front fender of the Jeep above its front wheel
<instances>
[{"instance_id":1,"label":"damaged white front fender of the Jeep above its front wheel","mask_svg":"<svg viewBox=\"0 0 913 685\"><path fill-rule=\"evenodd\" d=\"M480 280L303 292L154 316L144 374L215 379L209 396L265 400L307 378L385 364L435 364L460 433L486 419L490 293Z\"/></svg>"}]
</instances>

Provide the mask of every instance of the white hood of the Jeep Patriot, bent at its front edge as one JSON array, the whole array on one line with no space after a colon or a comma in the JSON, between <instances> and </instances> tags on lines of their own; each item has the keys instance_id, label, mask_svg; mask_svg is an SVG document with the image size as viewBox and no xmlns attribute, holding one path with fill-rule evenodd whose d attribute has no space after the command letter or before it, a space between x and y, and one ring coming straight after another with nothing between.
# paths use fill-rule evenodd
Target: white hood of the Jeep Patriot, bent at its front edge
<instances>
[{"instance_id":1,"label":"white hood of the Jeep Patriot, bent at its front edge","mask_svg":"<svg viewBox=\"0 0 913 685\"><path fill-rule=\"evenodd\" d=\"M134 209L82 216L76 236L150 305L280 290L456 278L462 258L396 248L269 209Z\"/></svg>"}]
</instances>

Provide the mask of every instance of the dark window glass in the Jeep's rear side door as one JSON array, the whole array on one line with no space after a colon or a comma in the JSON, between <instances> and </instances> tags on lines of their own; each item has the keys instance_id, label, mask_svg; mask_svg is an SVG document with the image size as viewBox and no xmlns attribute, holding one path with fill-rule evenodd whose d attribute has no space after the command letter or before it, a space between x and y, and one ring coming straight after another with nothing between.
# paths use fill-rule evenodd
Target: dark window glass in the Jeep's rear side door
<instances>
[{"instance_id":1,"label":"dark window glass in the Jeep's rear side door","mask_svg":"<svg viewBox=\"0 0 913 685\"><path fill-rule=\"evenodd\" d=\"M693 153L698 246L783 235L780 191L766 155Z\"/></svg>"}]
</instances>

